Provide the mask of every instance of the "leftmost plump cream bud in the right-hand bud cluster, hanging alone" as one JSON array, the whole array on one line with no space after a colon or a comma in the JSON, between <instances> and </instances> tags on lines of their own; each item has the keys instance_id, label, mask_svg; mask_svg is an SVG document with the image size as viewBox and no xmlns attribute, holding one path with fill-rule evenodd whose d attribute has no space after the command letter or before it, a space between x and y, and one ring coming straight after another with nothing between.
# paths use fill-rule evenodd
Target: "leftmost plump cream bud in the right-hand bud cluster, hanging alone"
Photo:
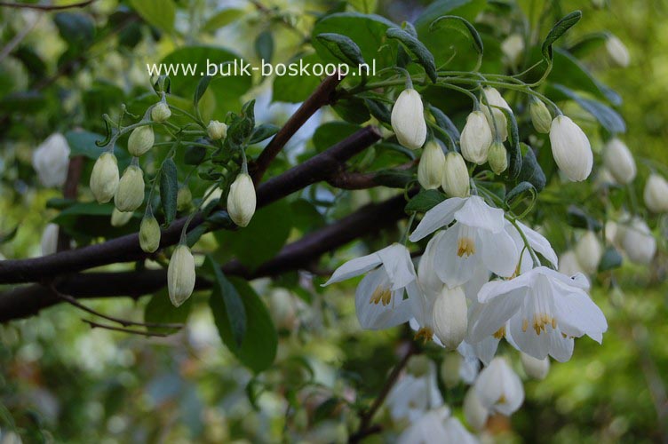
<instances>
[{"instance_id":1,"label":"leftmost plump cream bud in the right-hand bud cluster, hanging alone","mask_svg":"<svg viewBox=\"0 0 668 444\"><path fill-rule=\"evenodd\" d=\"M390 120L402 146L418 149L425 144L425 109L418 91L409 88L399 94L394 102Z\"/></svg>"}]
</instances>

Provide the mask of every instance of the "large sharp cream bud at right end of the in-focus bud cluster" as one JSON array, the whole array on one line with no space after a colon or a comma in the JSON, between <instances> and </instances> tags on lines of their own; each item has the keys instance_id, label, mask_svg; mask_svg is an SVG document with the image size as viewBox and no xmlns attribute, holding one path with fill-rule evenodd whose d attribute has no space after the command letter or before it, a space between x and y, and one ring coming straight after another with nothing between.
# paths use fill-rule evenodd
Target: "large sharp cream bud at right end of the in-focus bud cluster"
<instances>
[{"instance_id":1,"label":"large sharp cream bud at right end of the in-focus bud cluster","mask_svg":"<svg viewBox=\"0 0 668 444\"><path fill-rule=\"evenodd\" d=\"M558 115L550 127L554 162L566 177L580 182L592 172L593 154L585 133L566 115Z\"/></svg>"}]
</instances>

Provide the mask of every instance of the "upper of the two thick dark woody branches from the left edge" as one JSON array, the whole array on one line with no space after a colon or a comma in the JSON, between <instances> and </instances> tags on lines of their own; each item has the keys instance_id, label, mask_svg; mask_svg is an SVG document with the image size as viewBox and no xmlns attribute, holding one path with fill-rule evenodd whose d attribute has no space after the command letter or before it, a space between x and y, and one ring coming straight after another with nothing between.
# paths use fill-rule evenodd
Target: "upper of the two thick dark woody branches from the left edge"
<instances>
[{"instance_id":1,"label":"upper of the two thick dark woody branches from the left edge","mask_svg":"<svg viewBox=\"0 0 668 444\"><path fill-rule=\"evenodd\" d=\"M282 175L273 178L258 187L258 207L285 197L304 186L329 178L335 168L350 157L369 147L380 139L378 130L366 127L334 147L314 155L313 158ZM161 248L179 242L181 230L187 218L179 218L169 228L163 230ZM194 229L203 223L201 214L195 215L188 228ZM42 258L5 260L0 262L0 283L44 282L60 274L76 273L96 266L105 266L116 262L131 262L146 258L147 254L139 247L138 234L128 234L111 241L83 247L76 250Z\"/></svg>"}]
</instances>

